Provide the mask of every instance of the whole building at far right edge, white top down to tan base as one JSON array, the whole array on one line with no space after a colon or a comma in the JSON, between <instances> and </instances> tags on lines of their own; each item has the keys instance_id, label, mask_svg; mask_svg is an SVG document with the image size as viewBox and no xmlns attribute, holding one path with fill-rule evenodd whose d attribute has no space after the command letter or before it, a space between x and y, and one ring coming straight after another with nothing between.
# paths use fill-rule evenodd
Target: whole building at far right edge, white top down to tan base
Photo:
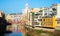
<instances>
[{"instance_id":1,"label":"whole building at far right edge, white top down to tan base","mask_svg":"<svg viewBox=\"0 0 60 36\"><path fill-rule=\"evenodd\" d=\"M59 23L60 23L60 4L52 4L51 9L52 9L51 10L52 14L56 18L56 22L57 22L56 24L59 25Z\"/></svg>"}]
</instances>

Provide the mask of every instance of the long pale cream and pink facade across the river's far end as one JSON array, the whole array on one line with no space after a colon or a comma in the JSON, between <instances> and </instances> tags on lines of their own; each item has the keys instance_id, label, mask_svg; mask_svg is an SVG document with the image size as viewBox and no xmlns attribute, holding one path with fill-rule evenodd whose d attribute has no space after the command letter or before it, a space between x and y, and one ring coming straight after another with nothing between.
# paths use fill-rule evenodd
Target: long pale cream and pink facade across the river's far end
<instances>
[{"instance_id":1,"label":"long pale cream and pink facade across the river's far end","mask_svg":"<svg viewBox=\"0 0 60 36\"><path fill-rule=\"evenodd\" d=\"M6 15L6 20L10 23L19 23L22 20L21 14L8 14Z\"/></svg>"}]
</instances>

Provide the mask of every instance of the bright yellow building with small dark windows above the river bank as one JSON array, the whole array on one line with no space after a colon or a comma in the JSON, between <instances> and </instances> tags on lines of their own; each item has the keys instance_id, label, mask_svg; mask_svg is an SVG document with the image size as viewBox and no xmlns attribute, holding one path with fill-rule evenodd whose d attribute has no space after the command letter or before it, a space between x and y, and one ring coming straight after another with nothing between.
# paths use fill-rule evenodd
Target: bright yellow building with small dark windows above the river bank
<instances>
[{"instance_id":1,"label":"bright yellow building with small dark windows above the river bank","mask_svg":"<svg viewBox=\"0 0 60 36\"><path fill-rule=\"evenodd\" d=\"M42 18L42 27L55 28L56 27L55 16L43 17Z\"/></svg>"}]
</instances>

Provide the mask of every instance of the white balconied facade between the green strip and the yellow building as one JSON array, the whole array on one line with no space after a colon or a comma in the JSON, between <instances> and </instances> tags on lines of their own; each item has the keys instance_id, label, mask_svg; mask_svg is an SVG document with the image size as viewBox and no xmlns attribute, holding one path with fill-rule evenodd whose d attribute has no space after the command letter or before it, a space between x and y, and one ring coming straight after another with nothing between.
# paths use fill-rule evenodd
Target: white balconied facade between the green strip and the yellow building
<instances>
[{"instance_id":1,"label":"white balconied facade between the green strip and the yellow building","mask_svg":"<svg viewBox=\"0 0 60 36\"><path fill-rule=\"evenodd\" d=\"M42 17L47 15L47 8L39 8L37 12L34 12L34 26L41 26Z\"/></svg>"}]
</instances>

